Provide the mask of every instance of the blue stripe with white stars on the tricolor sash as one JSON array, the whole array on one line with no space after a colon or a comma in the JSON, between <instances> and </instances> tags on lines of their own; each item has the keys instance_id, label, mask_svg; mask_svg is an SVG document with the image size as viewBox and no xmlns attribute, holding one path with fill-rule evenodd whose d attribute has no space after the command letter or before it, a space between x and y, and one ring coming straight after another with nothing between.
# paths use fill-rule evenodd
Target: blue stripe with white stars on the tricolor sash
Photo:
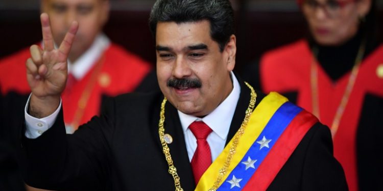
<instances>
[{"instance_id":1,"label":"blue stripe with white stars on the tricolor sash","mask_svg":"<svg viewBox=\"0 0 383 191\"><path fill-rule=\"evenodd\" d=\"M262 130L262 132L259 134L259 137L247 151L241 162L238 163L238 165L233 169L233 171L231 171L227 179L217 190L242 190L242 188L246 185L251 176L253 176L260 163L265 159L266 155L269 153L269 151L273 147L274 143L278 140L284 129L301 111L302 108L296 106L291 102L283 103L271 117L270 121L265 126L264 130ZM267 141L271 140L268 143L269 148L264 146L260 149L260 143L262 141L262 138L264 137ZM249 157L251 160L256 161L254 162L249 160L250 162L248 162ZM246 165L243 162L249 163L247 170ZM251 165L251 163L253 163L253 165ZM236 181L235 179L233 179L234 176L235 179L237 179Z\"/></svg>"}]
</instances>

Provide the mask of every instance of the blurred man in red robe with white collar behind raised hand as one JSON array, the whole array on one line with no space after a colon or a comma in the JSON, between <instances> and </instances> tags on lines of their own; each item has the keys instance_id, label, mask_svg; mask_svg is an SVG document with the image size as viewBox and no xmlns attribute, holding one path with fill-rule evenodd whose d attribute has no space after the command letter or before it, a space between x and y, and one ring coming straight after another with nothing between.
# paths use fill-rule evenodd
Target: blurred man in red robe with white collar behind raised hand
<instances>
[{"instance_id":1,"label":"blurred man in red robe with white collar behind raised hand","mask_svg":"<svg viewBox=\"0 0 383 191\"><path fill-rule=\"evenodd\" d=\"M67 133L98 115L108 97L134 91L152 67L133 53L110 42L102 33L109 16L108 0L43 0L55 44L60 44L73 20L80 24L68 56L67 88L61 95ZM44 40L44 39L43 39ZM42 44L42 43L39 43ZM0 190L24 190L13 159L11 134L23 120L16 117L31 92L26 78L29 48L0 60ZM156 86L156 80L153 81ZM4 152L3 152L4 151ZM3 171L4 170L4 171ZM4 178L3 178L4 177Z\"/></svg>"}]
</instances>

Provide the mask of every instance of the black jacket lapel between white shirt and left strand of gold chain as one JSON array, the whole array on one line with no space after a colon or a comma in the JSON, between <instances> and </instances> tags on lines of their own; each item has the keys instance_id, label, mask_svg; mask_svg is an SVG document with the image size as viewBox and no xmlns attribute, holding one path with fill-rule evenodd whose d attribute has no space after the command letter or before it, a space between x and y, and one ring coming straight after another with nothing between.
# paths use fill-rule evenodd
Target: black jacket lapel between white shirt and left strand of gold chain
<instances>
[{"instance_id":1,"label":"black jacket lapel between white shirt and left strand of gold chain","mask_svg":"<svg viewBox=\"0 0 383 191\"><path fill-rule=\"evenodd\" d=\"M174 166L177 168L178 176L181 180L181 186L184 190L194 190L196 184L192 167L190 166L189 157L187 155L185 138L178 117L176 108L167 102L165 105L165 133L173 137L173 143L168 144Z\"/></svg>"}]
</instances>

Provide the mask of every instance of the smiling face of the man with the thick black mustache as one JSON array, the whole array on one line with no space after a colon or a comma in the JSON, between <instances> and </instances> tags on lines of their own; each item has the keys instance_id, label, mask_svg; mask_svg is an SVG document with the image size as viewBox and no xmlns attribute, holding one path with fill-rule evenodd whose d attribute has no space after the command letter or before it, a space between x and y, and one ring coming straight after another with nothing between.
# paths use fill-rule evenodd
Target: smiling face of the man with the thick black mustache
<instances>
[{"instance_id":1,"label":"smiling face of the man with the thick black mustache","mask_svg":"<svg viewBox=\"0 0 383 191\"><path fill-rule=\"evenodd\" d=\"M221 52L209 21L158 22L156 46L160 89L182 113L205 116L230 94L234 35Z\"/></svg>"}]
</instances>

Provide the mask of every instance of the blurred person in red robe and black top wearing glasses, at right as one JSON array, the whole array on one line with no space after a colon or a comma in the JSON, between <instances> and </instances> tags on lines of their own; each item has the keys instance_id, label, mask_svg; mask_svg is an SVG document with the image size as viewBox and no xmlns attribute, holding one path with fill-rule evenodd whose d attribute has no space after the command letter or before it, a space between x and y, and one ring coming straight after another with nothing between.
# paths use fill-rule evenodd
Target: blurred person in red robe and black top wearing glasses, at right
<instances>
[{"instance_id":1,"label":"blurred person in red robe and black top wearing glasses, at right","mask_svg":"<svg viewBox=\"0 0 383 191\"><path fill-rule=\"evenodd\" d=\"M383 190L383 45L374 34L376 2L298 4L310 36L266 52L244 76L265 93L290 97L331 129L334 156L351 191Z\"/></svg>"}]
</instances>

